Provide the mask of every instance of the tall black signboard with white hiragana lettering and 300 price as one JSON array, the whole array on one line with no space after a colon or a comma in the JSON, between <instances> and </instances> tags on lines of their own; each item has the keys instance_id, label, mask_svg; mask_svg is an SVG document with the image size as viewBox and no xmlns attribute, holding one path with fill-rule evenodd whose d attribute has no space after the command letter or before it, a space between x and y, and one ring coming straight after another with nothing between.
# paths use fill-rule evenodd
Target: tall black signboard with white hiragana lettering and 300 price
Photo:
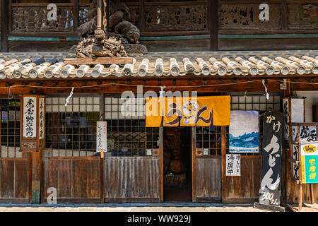
<instances>
[{"instance_id":1,"label":"tall black signboard with white hiragana lettering and 300 price","mask_svg":"<svg viewBox=\"0 0 318 226\"><path fill-rule=\"evenodd\" d=\"M280 206L281 203L281 145L283 113L265 112L261 155L261 189L259 203Z\"/></svg>"}]
</instances>

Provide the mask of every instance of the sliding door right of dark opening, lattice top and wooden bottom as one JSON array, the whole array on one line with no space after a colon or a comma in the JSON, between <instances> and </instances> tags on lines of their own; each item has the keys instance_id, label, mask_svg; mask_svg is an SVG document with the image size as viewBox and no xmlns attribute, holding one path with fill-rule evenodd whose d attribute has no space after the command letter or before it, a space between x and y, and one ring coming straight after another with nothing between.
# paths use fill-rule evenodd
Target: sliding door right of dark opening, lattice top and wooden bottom
<instances>
[{"instance_id":1,"label":"sliding door right of dark opening, lattice top and wooden bottom","mask_svg":"<svg viewBox=\"0 0 318 226\"><path fill-rule=\"evenodd\" d=\"M222 201L221 127L192 127L192 201Z\"/></svg>"}]
</instances>

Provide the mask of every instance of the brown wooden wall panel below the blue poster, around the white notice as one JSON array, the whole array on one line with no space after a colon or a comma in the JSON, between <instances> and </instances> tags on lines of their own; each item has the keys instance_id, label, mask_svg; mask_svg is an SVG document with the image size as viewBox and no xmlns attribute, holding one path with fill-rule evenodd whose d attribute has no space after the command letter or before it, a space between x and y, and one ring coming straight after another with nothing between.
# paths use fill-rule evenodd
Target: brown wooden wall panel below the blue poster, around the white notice
<instances>
[{"instance_id":1,"label":"brown wooden wall panel below the blue poster, around the white notice","mask_svg":"<svg viewBox=\"0 0 318 226\"><path fill-rule=\"evenodd\" d=\"M259 199L261 157L241 157L241 176L225 177L223 202L251 203Z\"/></svg>"}]
</instances>

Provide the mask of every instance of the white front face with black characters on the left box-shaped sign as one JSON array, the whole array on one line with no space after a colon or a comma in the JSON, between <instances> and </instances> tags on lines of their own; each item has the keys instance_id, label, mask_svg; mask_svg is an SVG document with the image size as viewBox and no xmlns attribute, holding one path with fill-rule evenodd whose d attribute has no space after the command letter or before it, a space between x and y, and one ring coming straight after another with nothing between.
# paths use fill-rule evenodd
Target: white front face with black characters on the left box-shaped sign
<instances>
[{"instance_id":1,"label":"white front face with black characters on the left box-shaped sign","mask_svg":"<svg viewBox=\"0 0 318 226\"><path fill-rule=\"evenodd\" d=\"M37 136L37 97L23 97L23 137Z\"/></svg>"}]
</instances>

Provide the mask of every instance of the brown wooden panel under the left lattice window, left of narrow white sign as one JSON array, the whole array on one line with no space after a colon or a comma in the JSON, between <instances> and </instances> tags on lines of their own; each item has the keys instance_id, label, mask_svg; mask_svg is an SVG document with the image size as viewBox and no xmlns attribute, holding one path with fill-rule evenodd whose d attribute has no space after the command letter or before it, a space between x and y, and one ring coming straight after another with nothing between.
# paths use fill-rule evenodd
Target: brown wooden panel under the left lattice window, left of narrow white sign
<instances>
[{"instance_id":1,"label":"brown wooden panel under the left lattice window, left of narrow white sign","mask_svg":"<svg viewBox=\"0 0 318 226\"><path fill-rule=\"evenodd\" d=\"M57 189L58 202L100 200L100 159L70 158L45 160L45 198L49 187Z\"/></svg>"}]
</instances>

